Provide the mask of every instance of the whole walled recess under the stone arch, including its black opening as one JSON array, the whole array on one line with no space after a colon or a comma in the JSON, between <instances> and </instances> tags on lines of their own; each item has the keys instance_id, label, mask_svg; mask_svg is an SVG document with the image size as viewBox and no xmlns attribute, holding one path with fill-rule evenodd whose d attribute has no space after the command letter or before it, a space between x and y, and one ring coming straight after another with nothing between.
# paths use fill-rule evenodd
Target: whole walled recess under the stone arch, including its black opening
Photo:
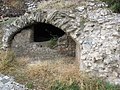
<instances>
[{"instance_id":1,"label":"whole walled recess under the stone arch, including its black opening","mask_svg":"<svg viewBox=\"0 0 120 90\"><path fill-rule=\"evenodd\" d=\"M60 28L34 23L15 35L12 48L17 56L46 60L62 56L75 57L76 44Z\"/></svg>"}]
</instances>

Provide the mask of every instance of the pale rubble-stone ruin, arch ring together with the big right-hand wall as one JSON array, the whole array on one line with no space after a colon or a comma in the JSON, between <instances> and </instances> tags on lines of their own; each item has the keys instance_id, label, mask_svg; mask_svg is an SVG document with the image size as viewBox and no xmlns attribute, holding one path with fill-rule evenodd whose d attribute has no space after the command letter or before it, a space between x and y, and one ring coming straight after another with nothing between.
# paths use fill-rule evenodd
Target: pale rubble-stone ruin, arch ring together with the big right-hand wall
<instances>
[{"instance_id":1,"label":"pale rubble-stone ruin, arch ring together with the big right-hand wall","mask_svg":"<svg viewBox=\"0 0 120 90\"><path fill-rule=\"evenodd\" d=\"M50 24L75 41L80 71L120 84L120 14L106 7L103 2L87 0L72 10L25 14L4 27L2 48L10 48L15 35L24 28L35 23Z\"/></svg>"}]
</instances>

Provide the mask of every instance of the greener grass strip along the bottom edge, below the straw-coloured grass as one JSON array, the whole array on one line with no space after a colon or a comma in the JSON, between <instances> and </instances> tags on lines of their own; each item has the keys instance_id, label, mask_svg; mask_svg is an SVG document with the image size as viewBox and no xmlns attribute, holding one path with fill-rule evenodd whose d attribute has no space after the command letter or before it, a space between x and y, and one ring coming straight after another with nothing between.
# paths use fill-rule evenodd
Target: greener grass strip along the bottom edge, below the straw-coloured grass
<instances>
[{"instance_id":1,"label":"greener grass strip along the bottom edge, below the straw-coloured grass","mask_svg":"<svg viewBox=\"0 0 120 90\"><path fill-rule=\"evenodd\" d=\"M77 81L72 81L71 83L55 81L53 86L51 86L51 90L120 90L120 86L98 79L84 81L83 86L80 86Z\"/></svg>"}]
</instances>

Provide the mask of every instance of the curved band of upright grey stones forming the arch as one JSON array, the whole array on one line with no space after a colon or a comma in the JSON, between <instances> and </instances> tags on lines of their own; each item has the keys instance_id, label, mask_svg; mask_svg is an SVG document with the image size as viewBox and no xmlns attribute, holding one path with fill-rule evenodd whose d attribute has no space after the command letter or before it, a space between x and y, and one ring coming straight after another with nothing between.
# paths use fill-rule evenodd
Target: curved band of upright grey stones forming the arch
<instances>
[{"instance_id":1,"label":"curved band of upright grey stones forming the arch","mask_svg":"<svg viewBox=\"0 0 120 90\"><path fill-rule=\"evenodd\" d=\"M39 10L20 16L4 28L5 33L2 39L3 49L10 48L14 36L21 32L23 28L38 22L51 24L71 36L70 33L77 29L74 18L70 15L69 11ZM74 40L74 36L71 36L71 38Z\"/></svg>"}]
</instances>

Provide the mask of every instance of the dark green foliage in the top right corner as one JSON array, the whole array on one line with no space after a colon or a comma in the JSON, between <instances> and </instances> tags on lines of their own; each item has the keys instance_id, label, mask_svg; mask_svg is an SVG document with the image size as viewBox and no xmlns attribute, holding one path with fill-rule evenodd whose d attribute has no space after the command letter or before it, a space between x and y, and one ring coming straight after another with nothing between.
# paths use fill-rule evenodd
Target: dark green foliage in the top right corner
<instances>
[{"instance_id":1,"label":"dark green foliage in the top right corner","mask_svg":"<svg viewBox=\"0 0 120 90\"><path fill-rule=\"evenodd\" d=\"M108 4L108 7L115 13L120 13L120 0L101 0Z\"/></svg>"}]
</instances>

